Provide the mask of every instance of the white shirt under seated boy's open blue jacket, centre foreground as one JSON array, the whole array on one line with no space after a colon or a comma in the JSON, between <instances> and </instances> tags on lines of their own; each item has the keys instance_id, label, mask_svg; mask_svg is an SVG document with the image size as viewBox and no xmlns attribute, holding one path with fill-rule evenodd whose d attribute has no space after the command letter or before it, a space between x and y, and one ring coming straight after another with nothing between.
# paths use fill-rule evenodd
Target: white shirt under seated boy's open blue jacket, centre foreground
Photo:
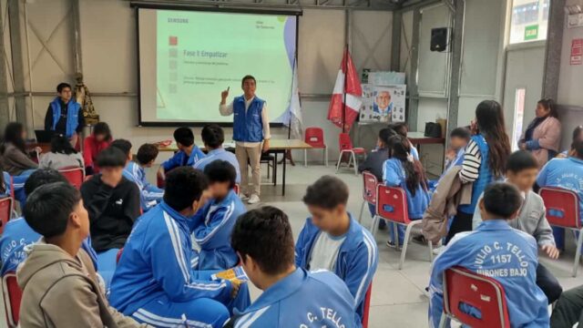
<instances>
[{"instance_id":1,"label":"white shirt under seated boy's open blue jacket, centre foreground","mask_svg":"<svg viewBox=\"0 0 583 328\"><path fill-rule=\"evenodd\" d=\"M310 270L325 269L333 272L336 268L340 246L343 245L345 239L345 235L334 237L326 232L320 232L310 254Z\"/></svg>"}]
</instances>

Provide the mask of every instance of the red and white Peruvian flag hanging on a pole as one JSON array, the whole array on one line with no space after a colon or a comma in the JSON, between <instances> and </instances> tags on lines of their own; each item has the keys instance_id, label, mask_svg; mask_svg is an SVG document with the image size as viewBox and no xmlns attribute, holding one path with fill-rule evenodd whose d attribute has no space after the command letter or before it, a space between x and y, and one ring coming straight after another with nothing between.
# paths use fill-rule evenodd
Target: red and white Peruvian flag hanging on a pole
<instances>
[{"instance_id":1,"label":"red and white Peruvian flag hanging on a pole","mask_svg":"<svg viewBox=\"0 0 583 328\"><path fill-rule=\"evenodd\" d=\"M332 92L328 119L339 128L343 128L343 131L350 130L363 105L362 97L363 87L354 68L353 58L346 47Z\"/></svg>"}]
</instances>

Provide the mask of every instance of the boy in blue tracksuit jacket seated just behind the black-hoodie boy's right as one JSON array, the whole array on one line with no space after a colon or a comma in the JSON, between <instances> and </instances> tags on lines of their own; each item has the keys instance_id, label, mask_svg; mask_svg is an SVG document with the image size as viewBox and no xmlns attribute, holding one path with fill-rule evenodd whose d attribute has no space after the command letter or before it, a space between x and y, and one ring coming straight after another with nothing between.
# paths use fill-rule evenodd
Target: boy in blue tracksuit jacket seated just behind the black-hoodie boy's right
<instances>
[{"instance_id":1,"label":"boy in blue tracksuit jacket seated just behind the black-hoodie boy's right","mask_svg":"<svg viewBox=\"0 0 583 328\"><path fill-rule=\"evenodd\" d=\"M146 168L151 168L158 157L158 148L152 144L143 144L138 149L136 161L129 161L124 169L124 177L136 183L139 189L139 200L142 210L156 206L164 196L164 190L148 182Z\"/></svg>"}]
</instances>

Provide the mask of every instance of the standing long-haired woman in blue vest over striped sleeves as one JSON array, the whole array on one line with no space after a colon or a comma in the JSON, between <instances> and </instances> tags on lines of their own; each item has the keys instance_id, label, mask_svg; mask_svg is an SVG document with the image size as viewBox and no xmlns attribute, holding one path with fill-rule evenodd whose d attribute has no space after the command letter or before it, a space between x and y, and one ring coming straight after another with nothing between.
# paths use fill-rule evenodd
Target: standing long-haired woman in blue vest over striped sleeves
<instances>
[{"instance_id":1,"label":"standing long-haired woman in blue vest over striped sleeves","mask_svg":"<svg viewBox=\"0 0 583 328\"><path fill-rule=\"evenodd\" d=\"M510 141L506 135L504 112L494 100L484 100L476 108L476 120L472 122L474 135L465 147L464 161L459 178L472 183L472 202L460 205L445 243L457 232L471 231L472 218L477 200L491 182L502 179L506 159L510 155Z\"/></svg>"}]
</instances>

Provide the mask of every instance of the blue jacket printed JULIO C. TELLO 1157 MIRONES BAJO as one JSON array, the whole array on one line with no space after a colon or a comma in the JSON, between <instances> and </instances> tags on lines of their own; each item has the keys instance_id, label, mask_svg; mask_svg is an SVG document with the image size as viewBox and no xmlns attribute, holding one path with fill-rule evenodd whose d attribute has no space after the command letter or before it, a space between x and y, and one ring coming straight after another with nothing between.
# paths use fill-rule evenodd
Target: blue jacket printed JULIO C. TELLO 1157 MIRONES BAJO
<instances>
[{"instance_id":1,"label":"blue jacket printed JULIO C. TELLO 1157 MIRONES BAJO","mask_svg":"<svg viewBox=\"0 0 583 328\"><path fill-rule=\"evenodd\" d=\"M459 232L433 263L429 282L429 323L443 312L443 276L456 265L495 278L506 292L511 327L548 327L547 296L537 286L537 241L506 220L483 221L476 231ZM472 313L471 306L466 307Z\"/></svg>"}]
</instances>

